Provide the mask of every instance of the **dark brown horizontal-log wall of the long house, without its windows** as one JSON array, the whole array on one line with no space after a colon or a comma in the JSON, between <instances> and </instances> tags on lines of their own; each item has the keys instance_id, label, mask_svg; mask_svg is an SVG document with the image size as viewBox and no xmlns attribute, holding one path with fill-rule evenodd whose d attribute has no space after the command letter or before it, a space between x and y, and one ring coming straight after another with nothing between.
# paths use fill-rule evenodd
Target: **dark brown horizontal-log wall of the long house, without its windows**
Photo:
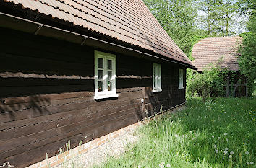
<instances>
[{"instance_id":1,"label":"dark brown horizontal-log wall of the long house, without its windows","mask_svg":"<svg viewBox=\"0 0 256 168\"><path fill-rule=\"evenodd\" d=\"M114 53L119 97L96 101L97 49L12 30L0 36L0 165L26 167L69 140L77 146L185 101L180 67L170 63L159 62L163 91L153 93L153 62Z\"/></svg>"}]
</instances>

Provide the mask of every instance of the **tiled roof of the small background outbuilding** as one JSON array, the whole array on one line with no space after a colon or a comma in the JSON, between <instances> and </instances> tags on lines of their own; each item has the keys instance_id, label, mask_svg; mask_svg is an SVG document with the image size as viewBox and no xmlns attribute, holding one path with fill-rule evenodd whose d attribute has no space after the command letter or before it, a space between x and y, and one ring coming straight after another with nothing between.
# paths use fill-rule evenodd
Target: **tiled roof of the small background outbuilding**
<instances>
[{"instance_id":1,"label":"tiled roof of the small background outbuilding","mask_svg":"<svg viewBox=\"0 0 256 168\"><path fill-rule=\"evenodd\" d=\"M210 37L200 40L194 45L192 57L197 71L203 71L209 64L228 68L232 71L239 70L237 49L242 37ZM222 59L221 59L222 58ZM220 61L221 60L221 61Z\"/></svg>"}]
</instances>

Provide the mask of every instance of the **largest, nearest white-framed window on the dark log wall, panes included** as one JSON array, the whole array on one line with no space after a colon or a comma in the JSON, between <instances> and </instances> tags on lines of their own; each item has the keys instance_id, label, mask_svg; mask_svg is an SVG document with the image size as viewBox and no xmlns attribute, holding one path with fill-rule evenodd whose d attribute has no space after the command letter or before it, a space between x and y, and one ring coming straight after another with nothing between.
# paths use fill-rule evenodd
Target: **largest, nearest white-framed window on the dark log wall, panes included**
<instances>
[{"instance_id":1,"label":"largest, nearest white-framed window on the dark log wall, panes included","mask_svg":"<svg viewBox=\"0 0 256 168\"><path fill-rule=\"evenodd\" d=\"M95 99L118 97L116 94L116 56L95 51Z\"/></svg>"}]
</instances>

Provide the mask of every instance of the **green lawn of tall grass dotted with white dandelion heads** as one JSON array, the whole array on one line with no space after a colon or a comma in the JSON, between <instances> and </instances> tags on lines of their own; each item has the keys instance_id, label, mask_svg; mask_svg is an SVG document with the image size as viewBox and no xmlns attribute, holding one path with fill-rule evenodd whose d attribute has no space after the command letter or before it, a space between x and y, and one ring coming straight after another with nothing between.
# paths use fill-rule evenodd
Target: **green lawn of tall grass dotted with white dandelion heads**
<instances>
[{"instance_id":1,"label":"green lawn of tall grass dotted with white dandelion heads","mask_svg":"<svg viewBox=\"0 0 256 168\"><path fill-rule=\"evenodd\" d=\"M256 98L187 101L137 130L140 140L94 167L255 167Z\"/></svg>"}]
</instances>

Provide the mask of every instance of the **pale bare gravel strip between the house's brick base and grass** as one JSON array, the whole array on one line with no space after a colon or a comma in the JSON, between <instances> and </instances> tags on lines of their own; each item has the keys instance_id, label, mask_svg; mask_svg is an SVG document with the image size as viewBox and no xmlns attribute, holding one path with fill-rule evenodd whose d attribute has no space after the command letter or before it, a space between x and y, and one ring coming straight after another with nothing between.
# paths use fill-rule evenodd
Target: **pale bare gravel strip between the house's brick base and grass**
<instances>
[{"instance_id":1,"label":"pale bare gravel strip between the house's brick base and grass","mask_svg":"<svg viewBox=\"0 0 256 168\"><path fill-rule=\"evenodd\" d=\"M138 136L134 135L134 131L129 131L122 136L119 136L108 143L104 143L98 148L92 149L85 154L75 157L57 168L80 168L92 167L93 164L100 164L106 160L106 156L119 156L126 149L127 144L135 143Z\"/></svg>"}]
</instances>

